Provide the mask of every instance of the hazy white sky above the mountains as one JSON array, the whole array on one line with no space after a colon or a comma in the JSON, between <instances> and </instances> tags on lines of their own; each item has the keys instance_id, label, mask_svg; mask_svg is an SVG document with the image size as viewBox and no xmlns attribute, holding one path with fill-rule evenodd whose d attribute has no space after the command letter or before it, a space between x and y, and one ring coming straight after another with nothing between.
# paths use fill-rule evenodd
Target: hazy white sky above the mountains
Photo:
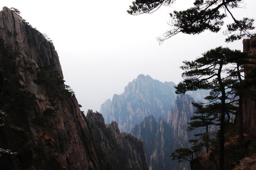
<instances>
[{"instance_id":1,"label":"hazy white sky above the mountains","mask_svg":"<svg viewBox=\"0 0 256 170\"><path fill-rule=\"evenodd\" d=\"M218 46L242 50L242 41L224 42L224 29L218 34L178 34L159 46L156 38L168 30L169 12L193 2L178 0L172 7L140 16L127 14L132 0L1 0L0 8L17 8L21 17L53 40L64 80L81 110L99 111L139 74L178 83L183 60ZM256 18L256 0L245 4L233 10L235 17Z\"/></svg>"}]
</instances>

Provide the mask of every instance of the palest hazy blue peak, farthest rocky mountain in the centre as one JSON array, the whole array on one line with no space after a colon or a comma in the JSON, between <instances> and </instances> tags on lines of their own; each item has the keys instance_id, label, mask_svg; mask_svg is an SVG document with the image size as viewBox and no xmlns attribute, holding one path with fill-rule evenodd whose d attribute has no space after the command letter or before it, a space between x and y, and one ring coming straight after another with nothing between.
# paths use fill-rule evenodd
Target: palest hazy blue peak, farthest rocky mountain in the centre
<instances>
[{"instance_id":1,"label":"palest hazy blue peak, farthest rocky mountain in the centre","mask_svg":"<svg viewBox=\"0 0 256 170\"><path fill-rule=\"evenodd\" d=\"M167 119L167 112L175 103L174 85L139 75L125 87L124 93L114 94L109 109L106 109L106 103L102 104L100 112L107 123L114 120L120 130L126 132L149 115ZM109 100L106 102L109 103Z\"/></svg>"}]
</instances>

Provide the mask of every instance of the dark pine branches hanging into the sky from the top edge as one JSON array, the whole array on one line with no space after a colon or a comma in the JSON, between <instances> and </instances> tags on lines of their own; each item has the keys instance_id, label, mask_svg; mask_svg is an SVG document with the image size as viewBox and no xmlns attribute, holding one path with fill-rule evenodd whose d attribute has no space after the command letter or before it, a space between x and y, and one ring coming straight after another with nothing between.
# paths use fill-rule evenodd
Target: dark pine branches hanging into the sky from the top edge
<instances>
[{"instance_id":1,"label":"dark pine branches hanging into the sky from the top edge","mask_svg":"<svg viewBox=\"0 0 256 170\"><path fill-rule=\"evenodd\" d=\"M127 12L131 15L152 13L161 6L170 6L176 0L135 0ZM243 37L251 37L255 33L252 30L254 19L244 17L238 20L230 11L232 8L242 8L243 0L194 0L194 6L183 11L174 10L170 13L171 29L159 37L159 44L164 40L178 34L199 34L205 30L217 33L224 24L224 18L230 16L233 23L227 25L225 34L226 42L239 40ZM223 13L221 13L221 10Z\"/></svg>"}]
</instances>

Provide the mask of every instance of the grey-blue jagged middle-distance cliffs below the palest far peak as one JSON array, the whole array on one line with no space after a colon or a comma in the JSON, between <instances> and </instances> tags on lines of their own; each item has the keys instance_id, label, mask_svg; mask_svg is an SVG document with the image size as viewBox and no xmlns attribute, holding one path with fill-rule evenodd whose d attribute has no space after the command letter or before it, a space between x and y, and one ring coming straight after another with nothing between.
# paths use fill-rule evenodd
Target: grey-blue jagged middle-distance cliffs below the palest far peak
<instances>
[{"instance_id":1,"label":"grey-blue jagged middle-distance cliffs below the palest far peak","mask_svg":"<svg viewBox=\"0 0 256 170\"><path fill-rule=\"evenodd\" d=\"M167 121L160 117L157 122L148 116L132 129L131 134L144 141L150 170L189 169L186 162L172 161L170 155L180 147L189 147L188 140L195 133L187 132L187 122L194 113L191 102L191 96L179 94L174 109L168 111Z\"/></svg>"}]
</instances>

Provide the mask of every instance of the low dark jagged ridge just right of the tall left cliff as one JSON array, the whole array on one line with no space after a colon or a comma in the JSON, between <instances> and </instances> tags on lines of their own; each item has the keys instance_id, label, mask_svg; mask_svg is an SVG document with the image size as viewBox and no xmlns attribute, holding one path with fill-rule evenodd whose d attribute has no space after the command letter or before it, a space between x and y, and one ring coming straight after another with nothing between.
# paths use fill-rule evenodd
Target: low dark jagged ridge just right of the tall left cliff
<instances>
[{"instance_id":1,"label":"low dark jagged ridge just right of the tall left cliff","mask_svg":"<svg viewBox=\"0 0 256 170\"><path fill-rule=\"evenodd\" d=\"M86 116L99 155L101 170L148 170L143 142L125 132L115 121L105 124L102 115L88 110Z\"/></svg>"}]
</instances>

